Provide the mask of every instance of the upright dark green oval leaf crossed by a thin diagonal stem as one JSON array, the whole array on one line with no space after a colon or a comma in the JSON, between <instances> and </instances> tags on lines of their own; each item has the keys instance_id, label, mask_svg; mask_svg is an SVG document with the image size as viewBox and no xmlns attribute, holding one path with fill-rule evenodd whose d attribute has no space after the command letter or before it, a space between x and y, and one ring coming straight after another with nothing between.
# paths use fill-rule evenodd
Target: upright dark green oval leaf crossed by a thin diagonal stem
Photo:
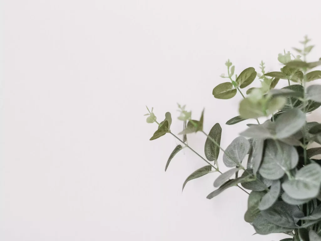
<instances>
[{"instance_id":1,"label":"upright dark green oval leaf crossed by a thin diagonal stem","mask_svg":"<svg viewBox=\"0 0 321 241\"><path fill-rule=\"evenodd\" d=\"M220 148L215 146L215 144L210 138L214 139L216 143L220 145L221 134L222 134L222 128L219 123L216 123L210 130L210 133L208 133L208 137L204 145L204 153L207 160L215 161L215 163L217 162L217 158L220 153Z\"/></svg>"}]
</instances>

